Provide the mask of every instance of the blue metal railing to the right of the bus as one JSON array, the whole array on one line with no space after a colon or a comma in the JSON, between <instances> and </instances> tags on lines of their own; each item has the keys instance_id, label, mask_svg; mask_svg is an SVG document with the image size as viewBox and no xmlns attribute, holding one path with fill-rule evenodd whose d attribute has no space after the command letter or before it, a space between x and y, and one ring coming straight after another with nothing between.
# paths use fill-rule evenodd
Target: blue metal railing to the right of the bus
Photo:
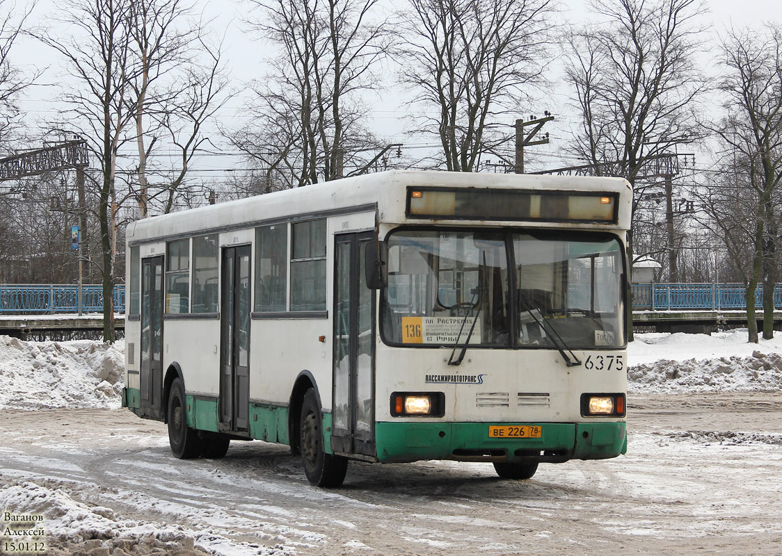
<instances>
[{"instance_id":1,"label":"blue metal railing to the right of the bus","mask_svg":"<svg viewBox=\"0 0 782 556\"><path fill-rule=\"evenodd\" d=\"M755 290L755 307L763 306L763 290ZM741 283L634 283L633 310L740 310L747 307ZM782 309L782 283L774 287L774 307Z\"/></svg>"}]
</instances>

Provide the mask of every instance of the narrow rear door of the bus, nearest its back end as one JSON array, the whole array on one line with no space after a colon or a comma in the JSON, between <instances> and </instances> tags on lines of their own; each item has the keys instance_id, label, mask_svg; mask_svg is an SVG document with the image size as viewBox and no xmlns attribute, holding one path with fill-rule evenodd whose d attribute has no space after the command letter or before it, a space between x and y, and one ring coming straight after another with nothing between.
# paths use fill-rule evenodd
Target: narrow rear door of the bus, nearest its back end
<instances>
[{"instance_id":1,"label":"narrow rear door of the bus, nearest its back end","mask_svg":"<svg viewBox=\"0 0 782 556\"><path fill-rule=\"evenodd\" d=\"M142 260L141 415L163 419L163 257Z\"/></svg>"}]
</instances>

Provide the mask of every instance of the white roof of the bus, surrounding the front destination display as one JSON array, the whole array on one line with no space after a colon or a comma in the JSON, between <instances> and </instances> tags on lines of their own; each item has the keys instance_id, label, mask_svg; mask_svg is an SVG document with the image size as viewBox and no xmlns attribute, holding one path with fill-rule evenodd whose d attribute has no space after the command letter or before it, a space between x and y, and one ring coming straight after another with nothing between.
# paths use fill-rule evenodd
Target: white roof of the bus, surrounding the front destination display
<instances>
[{"instance_id":1,"label":"white roof of the bus, surrounding the front destination display","mask_svg":"<svg viewBox=\"0 0 782 556\"><path fill-rule=\"evenodd\" d=\"M454 189L474 187L500 190L589 191L617 194L619 198L618 223L612 225L582 223L578 227L620 230L627 230L630 227L632 188L622 178L389 170L137 220L127 226L127 242L136 244L195 233L249 228L275 221L310 219L318 216L375 209L378 210L380 221L383 223L428 224L436 222L464 226L469 222L471 224L485 223L487 226L576 226L576 223L409 218L405 216L407 187L450 187Z\"/></svg>"}]
</instances>

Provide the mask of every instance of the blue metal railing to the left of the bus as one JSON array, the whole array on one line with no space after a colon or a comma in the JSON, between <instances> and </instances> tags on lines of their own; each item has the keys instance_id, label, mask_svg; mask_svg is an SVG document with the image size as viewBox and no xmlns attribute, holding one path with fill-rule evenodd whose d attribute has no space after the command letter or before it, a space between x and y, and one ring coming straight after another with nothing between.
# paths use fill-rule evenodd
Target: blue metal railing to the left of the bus
<instances>
[{"instance_id":1,"label":"blue metal railing to the left of the bus","mask_svg":"<svg viewBox=\"0 0 782 556\"><path fill-rule=\"evenodd\" d=\"M125 287L114 287L114 312L125 312ZM81 287L82 312L103 311L102 286ZM0 314L54 315L78 311L78 286L71 284L8 284L0 285Z\"/></svg>"}]
</instances>

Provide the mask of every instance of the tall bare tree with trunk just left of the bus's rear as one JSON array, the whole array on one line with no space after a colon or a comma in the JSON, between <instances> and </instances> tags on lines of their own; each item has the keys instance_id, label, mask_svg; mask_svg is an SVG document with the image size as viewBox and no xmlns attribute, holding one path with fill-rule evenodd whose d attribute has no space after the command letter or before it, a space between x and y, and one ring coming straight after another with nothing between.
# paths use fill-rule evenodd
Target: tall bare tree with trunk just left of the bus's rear
<instances>
[{"instance_id":1,"label":"tall bare tree with trunk just left of the bus's rear","mask_svg":"<svg viewBox=\"0 0 782 556\"><path fill-rule=\"evenodd\" d=\"M77 130L88 138L100 164L91 178L98 192L103 290L103 338L114 339L113 285L117 251L117 150L131 140L135 115L130 104L131 83L138 77L131 63L132 36L128 28L131 0L69 0L62 23L76 30L68 37L43 32L38 37L68 62L77 84L67 87L68 103L60 128Z\"/></svg>"}]
</instances>

